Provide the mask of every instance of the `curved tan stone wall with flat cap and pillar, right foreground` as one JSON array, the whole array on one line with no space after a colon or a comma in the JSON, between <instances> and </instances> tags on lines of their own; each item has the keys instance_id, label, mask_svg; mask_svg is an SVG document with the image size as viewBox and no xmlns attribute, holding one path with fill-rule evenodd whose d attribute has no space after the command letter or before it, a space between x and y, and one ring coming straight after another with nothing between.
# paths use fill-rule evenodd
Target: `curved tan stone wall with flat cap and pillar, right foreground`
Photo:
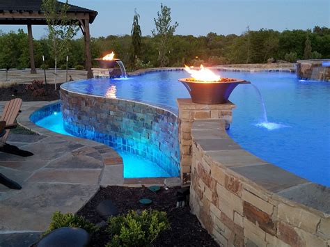
<instances>
[{"instance_id":1,"label":"curved tan stone wall with flat cap and pillar, right foreground","mask_svg":"<svg viewBox=\"0 0 330 247\"><path fill-rule=\"evenodd\" d=\"M178 105L180 142L191 143L181 151L191 154L191 211L220 246L330 246L329 187L240 148L226 133L233 104Z\"/></svg>"}]
</instances>

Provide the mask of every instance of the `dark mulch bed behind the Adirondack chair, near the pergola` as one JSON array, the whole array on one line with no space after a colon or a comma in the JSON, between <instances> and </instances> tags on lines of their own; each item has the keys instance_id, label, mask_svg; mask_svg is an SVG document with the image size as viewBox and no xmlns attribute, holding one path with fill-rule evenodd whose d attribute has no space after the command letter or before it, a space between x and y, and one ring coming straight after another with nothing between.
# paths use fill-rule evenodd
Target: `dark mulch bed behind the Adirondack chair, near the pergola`
<instances>
[{"instance_id":1,"label":"dark mulch bed behind the Adirondack chair, near the pergola","mask_svg":"<svg viewBox=\"0 0 330 247\"><path fill-rule=\"evenodd\" d=\"M0 88L0 101L8 101L10 99L21 98L23 102L26 101L52 101L60 99L59 88L61 83L57 84L57 90L54 84L44 85L43 88L46 90L45 96L33 97L32 92L26 90L27 84L16 84L8 88Z\"/></svg>"}]
</instances>

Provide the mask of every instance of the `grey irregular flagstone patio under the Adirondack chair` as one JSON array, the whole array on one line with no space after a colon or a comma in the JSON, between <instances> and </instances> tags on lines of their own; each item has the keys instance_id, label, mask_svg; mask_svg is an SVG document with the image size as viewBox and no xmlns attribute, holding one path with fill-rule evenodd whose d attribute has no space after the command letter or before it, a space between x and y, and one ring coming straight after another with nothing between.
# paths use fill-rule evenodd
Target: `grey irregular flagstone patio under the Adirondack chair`
<instances>
[{"instance_id":1,"label":"grey irregular flagstone patio under the Adirondack chair","mask_svg":"<svg viewBox=\"0 0 330 247\"><path fill-rule=\"evenodd\" d=\"M0 102L0 112L5 103ZM13 190L0 184L0 246L22 232L46 230L55 211L77 212L95 195L101 180L104 186L124 181L120 162L116 173L104 172L104 155L119 157L109 146L56 134L30 122L29 115L45 104L49 103L24 102L17 119L41 135L11 133L8 138L9 144L34 155L19 157L0 152L0 173L22 186Z\"/></svg>"}]
</instances>

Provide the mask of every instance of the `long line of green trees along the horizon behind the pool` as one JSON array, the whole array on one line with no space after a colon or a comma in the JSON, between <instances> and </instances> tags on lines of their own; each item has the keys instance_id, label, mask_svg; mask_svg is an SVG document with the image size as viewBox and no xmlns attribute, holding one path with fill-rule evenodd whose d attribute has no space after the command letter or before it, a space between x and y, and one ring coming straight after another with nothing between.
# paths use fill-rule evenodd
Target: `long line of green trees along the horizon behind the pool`
<instances>
[{"instance_id":1,"label":"long line of green trees along the horizon behind the pool","mask_svg":"<svg viewBox=\"0 0 330 247\"><path fill-rule=\"evenodd\" d=\"M315 26L313 30L272 29L251 31L249 27L242 35L205 36L175 35L178 23L171 25L171 9L161 6L157 13L152 35L143 36L139 26L139 14L135 12L131 35L108 35L91 38L93 58L100 58L114 51L129 70L143 67L221 65L235 63L267 63L273 61L295 62L298 59L330 58L330 29ZM52 40L33 40L36 67L54 67ZM84 38L68 40L65 54L57 58L58 67L84 67ZM97 66L97 63L94 64ZM17 32L0 31L0 68L29 67L28 35L22 29Z\"/></svg>"}]
</instances>

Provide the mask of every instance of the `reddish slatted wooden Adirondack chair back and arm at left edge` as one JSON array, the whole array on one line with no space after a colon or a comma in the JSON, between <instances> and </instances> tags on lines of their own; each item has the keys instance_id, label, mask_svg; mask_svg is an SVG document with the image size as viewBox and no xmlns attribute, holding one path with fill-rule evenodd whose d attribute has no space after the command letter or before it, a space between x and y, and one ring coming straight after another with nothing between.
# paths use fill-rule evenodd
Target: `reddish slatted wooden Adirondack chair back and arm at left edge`
<instances>
[{"instance_id":1,"label":"reddish slatted wooden Adirondack chair back and arm at left edge","mask_svg":"<svg viewBox=\"0 0 330 247\"><path fill-rule=\"evenodd\" d=\"M8 138L9 130L16 127L15 120L20 112L22 106L22 99L11 99L7 102L5 108L3 109L0 121L6 122L6 134L0 137L0 147L3 146Z\"/></svg>"}]
</instances>

